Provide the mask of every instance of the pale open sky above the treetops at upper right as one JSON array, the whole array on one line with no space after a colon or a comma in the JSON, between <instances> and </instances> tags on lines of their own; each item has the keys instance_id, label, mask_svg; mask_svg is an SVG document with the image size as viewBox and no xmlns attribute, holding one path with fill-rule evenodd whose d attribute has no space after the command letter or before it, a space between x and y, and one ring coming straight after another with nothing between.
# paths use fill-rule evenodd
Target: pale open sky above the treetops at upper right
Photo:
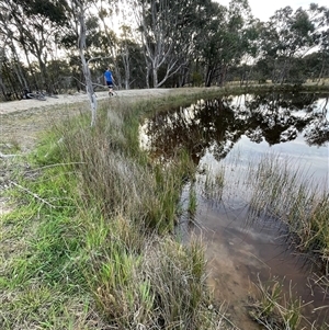
<instances>
[{"instance_id":1,"label":"pale open sky above the treetops at upper right","mask_svg":"<svg viewBox=\"0 0 329 330\"><path fill-rule=\"evenodd\" d=\"M227 5L229 0L216 0ZM310 3L329 7L328 0L248 0L252 14L261 21L268 21L279 9L290 5L293 10L299 7L307 9Z\"/></svg>"}]
</instances>

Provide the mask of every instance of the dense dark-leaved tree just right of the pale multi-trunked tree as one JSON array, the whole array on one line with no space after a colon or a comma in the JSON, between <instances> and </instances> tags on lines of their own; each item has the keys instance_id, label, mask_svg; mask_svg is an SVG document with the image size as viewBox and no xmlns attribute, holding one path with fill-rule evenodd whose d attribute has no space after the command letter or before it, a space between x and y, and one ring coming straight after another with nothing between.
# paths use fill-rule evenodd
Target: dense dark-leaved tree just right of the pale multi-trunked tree
<instances>
[{"instance_id":1,"label":"dense dark-leaved tree just right of the pale multi-trunked tree","mask_svg":"<svg viewBox=\"0 0 329 330\"><path fill-rule=\"evenodd\" d=\"M252 43L257 30L247 0L232 0L228 8L209 3L206 16L203 34L196 37L196 48L205 66L205 86L214 81L222 86L229 67L256 52Z\"/></svg>"}]
</instances>

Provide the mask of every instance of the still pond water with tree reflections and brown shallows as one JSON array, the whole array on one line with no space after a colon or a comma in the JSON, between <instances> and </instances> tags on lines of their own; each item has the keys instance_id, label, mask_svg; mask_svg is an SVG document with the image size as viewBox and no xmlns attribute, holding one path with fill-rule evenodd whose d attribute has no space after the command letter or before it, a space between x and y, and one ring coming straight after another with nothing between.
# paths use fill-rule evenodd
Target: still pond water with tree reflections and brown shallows
<instances>
[{"instance_id":1,"label":"still pond water with tree reflections and brown shallows","mask_svg":"<svg viewBox=\"0 0 329 330\"><path fill-rule=\"evenodd\" d=\"M185 213L181 228L202 235L206 243L209 285L227 303L240 329L254 329L246 316L247 297L258 280L273 276L286 292L309 301L310 321L329 319L329 295L315 285L317 264L296 252L286 228L265 216L250 220L248 172L269 155L300 172L308 184L328 191L329 104L324 94L266 94L200 100L148 120L140 127L140 145L155 159L169 162L185 148L198 167L196 183L186 183L182 205L188 207L192 185L197 209ZM214 198L204 193L204 174L225 169L225 189ZM189 236L188 235L188 236Z\"/></svg>"}]
</instances>

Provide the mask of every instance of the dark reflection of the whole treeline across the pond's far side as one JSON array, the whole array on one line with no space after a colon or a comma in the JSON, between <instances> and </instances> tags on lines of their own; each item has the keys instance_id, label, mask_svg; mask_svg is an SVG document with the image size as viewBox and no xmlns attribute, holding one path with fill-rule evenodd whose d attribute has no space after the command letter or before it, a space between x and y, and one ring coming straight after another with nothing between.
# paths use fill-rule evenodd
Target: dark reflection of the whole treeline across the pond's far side
<instances>
[{"instance_id":1,"label":"dark reflection of the whole treeline across the pond's far side","mask_svg":"<svg viewBox=\"0 0 329 330\"><path fill-rule=\"evenodd\" d=\"M329 123L328 95L322 106L317 104L320 96L274 93L226 96L160 113L147 127L151 151L171 158L178 149L185 148L198 162L208 148L216 159L224 158L242 135L272 146L292 140L302 132L307 144L321 146L329 140Z\"/></svg>"}]
</instances>

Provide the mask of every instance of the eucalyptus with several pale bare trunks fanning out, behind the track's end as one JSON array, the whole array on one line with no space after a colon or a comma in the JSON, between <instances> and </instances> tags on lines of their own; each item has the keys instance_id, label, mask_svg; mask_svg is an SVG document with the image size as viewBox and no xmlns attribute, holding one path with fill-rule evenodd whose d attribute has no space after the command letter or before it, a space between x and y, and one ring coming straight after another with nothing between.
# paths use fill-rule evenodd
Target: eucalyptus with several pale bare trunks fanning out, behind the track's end
<instances>
[{"instance_id":1,"label":"eucalyptus with several pale bare trunks fanning out, behind the track's end","mask_svg":"<svg viewBox=\"0 0 329 330\"><path fill-rule=\"evenodd\" d=\"M161 87L189 62L193 36L204 10L201 0L137 0L136 20L146 65L146 84ZM161 71L161 77L159 72Z\"/></svg>"}]
</instances>

